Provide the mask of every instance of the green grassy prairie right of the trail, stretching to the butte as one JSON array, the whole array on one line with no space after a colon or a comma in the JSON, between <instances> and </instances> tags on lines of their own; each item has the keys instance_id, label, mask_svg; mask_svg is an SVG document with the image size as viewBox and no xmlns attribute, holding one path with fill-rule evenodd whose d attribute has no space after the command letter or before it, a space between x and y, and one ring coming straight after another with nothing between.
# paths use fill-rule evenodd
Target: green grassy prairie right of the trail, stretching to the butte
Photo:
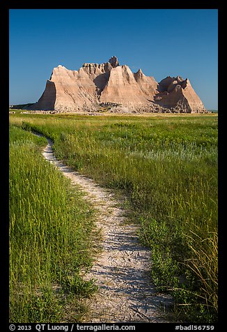
<instances>
[{"instance_id":1,"label":"green grassy prairie right of the trail, stretching to the butte","mask_svg":"<svg viewBox=\"0 0 227 332\"><path fill-rule=\"evenodd\" d=\"M124 193L175 317L217 321L217 114L14 114L10 122L51 137L57 158Z\"/></svg>"}]
</instances>

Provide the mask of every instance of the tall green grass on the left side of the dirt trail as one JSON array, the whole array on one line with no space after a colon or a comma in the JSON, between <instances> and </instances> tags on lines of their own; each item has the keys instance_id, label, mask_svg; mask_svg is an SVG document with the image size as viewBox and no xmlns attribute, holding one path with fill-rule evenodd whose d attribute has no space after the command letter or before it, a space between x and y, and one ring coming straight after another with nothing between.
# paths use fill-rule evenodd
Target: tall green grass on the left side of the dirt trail
<instances>
[{"instance_id":1,"label":"tall green grass on the left side of the dirt trail","mask_svg":"<svg viewBox=\"0 0 227 332\"><path fill-rule=\"evenodd\" d=\"M10 126L10 322L77 321L79 296L94 289L79 276L91 264L93 211L44 160L45 144Z\"/></svg>"}]
</instances>

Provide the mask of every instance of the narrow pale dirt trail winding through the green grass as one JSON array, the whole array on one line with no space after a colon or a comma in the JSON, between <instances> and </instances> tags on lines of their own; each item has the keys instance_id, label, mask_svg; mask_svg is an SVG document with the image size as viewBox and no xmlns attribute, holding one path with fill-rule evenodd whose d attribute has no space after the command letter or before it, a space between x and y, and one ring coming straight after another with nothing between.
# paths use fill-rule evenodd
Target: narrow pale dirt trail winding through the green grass
<instances>
[{"instance_id":1,"label":"narrow pale dirt trail winding through the green grass","mask_svg":"<svg viewBox=\"0 0 227 332\"><path fill-rule=\"evenodd\" d=\"M97 227L102 232L102 251L91 271L84 275L86 280L97 280L99 291L86 300L90 310L83 322L166 322L159 305L168 305L171 298L158 294L152 285L150 251L139 244L137 226L124 222L120 202L109 190L57 160L50 139L43 156L79 185L99 211Z\"/></svg>"}]
</instances>

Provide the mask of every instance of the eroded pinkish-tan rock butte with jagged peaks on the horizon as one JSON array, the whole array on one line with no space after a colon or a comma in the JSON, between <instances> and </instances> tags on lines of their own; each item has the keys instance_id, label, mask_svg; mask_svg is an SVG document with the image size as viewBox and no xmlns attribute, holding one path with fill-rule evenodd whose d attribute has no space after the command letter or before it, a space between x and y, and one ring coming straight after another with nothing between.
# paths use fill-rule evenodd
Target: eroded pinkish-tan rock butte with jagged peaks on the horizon
<instances>
[{"instance_id":1,"label":"eroded pinkish-tan rock butte with jagged peaks on the horizon","mask_svg":"<svg viewBox=\"0 0 227 332\"><path fill-rule=\"evenodd\" d=\"M188 78L166 77L157 83L139 69L120 66L116 56L106 63L84 63L79 70L54 68L45 91L29 110L80 112L205 113Z\"/></svg>"}]
</instances>

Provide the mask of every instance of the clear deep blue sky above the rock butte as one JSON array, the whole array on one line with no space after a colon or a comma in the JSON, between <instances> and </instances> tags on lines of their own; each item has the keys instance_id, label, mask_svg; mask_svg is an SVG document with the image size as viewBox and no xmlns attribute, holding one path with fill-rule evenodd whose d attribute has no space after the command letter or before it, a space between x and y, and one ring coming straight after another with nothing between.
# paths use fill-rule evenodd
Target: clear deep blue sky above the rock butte
<instances>
[{"instance_id":1,"label":"clear deep blue sky above the rock butte","mask_svg":"<svg viewBox=\"0 0 227 332\"><path fill-rule=\"evenodd\" d=\"M159 82L189 78L217 110L217 9L10 9L10 105L35 103L54 67L117 56Z\"/></svg>"}]
</instances>

